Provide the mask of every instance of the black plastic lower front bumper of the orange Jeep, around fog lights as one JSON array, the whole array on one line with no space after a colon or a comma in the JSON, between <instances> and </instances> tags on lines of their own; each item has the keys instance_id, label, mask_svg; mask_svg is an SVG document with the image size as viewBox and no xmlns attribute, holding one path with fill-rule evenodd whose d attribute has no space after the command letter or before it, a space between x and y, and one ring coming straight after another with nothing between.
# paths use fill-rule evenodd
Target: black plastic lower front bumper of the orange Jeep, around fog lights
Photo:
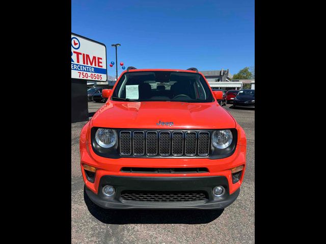
<instances>
[{"instance_id":1,"label":"black plastic lower front bumper of the orange Jeep, around fog lights","mask_svg":"<svg viewBox=\"0 0 326 244\"><path fill-rule=\"evenodd\" d=\"M102 193L105 185L115 187L115 194L106 197ZM215 197L212 189L215 186L223 186L225 193L221 197ZM205 191L207 199L201 201L177 201L177 202L151 202L131 201L121 198L124 190L135 191ZM98 194L86 187L88 197L102 208L114 209L222 209L229 206L239 195L238 188L233 194L229 194L228 179L224 176L207 177L135 177L105 175L100 179Z\"/></svg>"}]
</instances>

